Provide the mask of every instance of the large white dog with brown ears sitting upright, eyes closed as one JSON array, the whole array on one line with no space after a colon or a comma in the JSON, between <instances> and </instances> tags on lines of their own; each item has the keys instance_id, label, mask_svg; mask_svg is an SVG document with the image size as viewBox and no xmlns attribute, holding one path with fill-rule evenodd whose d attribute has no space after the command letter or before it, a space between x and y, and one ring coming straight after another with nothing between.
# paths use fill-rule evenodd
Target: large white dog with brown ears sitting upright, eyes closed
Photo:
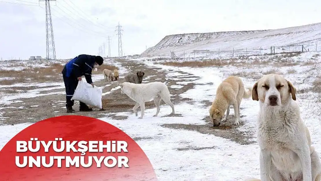
<instances>
[{"instance_id":1,"label":"large white dog with brown ears sitting upright, eyes closed","mask_svg":"<svg viewBox=\"0 0 321 181\"><path fill-rule=\"evenodd\" d=\"M321 163L295 102L296 89L280 75L263 76L252 89L259 101L257 139L262 181L320 181ZM257 179L252 179L257 180Z\"/></svg>"}]
</instances>

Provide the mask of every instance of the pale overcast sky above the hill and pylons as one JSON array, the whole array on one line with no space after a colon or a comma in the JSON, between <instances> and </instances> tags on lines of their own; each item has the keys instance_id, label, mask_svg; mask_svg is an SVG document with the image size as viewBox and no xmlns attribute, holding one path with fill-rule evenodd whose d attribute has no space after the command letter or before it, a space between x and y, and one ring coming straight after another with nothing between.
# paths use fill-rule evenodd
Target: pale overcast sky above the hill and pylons
<instances>
[{"instance_id":1,"label":"pale overcast sky above the hill and pylons","mask_svg":"<svg viewBox=\"0 0 321 181\"><path fill-rule=\"evenodd\" d=\"M124 55L141 54L170 34L321 22L318 0L57 0L51 5L57 59L97 55L103 43L108 55L108 35L111 56L118 56L118 22ZM38 0L0 0L0 57L46 57L45 15Z\"/></svg>"}]
</instances>

